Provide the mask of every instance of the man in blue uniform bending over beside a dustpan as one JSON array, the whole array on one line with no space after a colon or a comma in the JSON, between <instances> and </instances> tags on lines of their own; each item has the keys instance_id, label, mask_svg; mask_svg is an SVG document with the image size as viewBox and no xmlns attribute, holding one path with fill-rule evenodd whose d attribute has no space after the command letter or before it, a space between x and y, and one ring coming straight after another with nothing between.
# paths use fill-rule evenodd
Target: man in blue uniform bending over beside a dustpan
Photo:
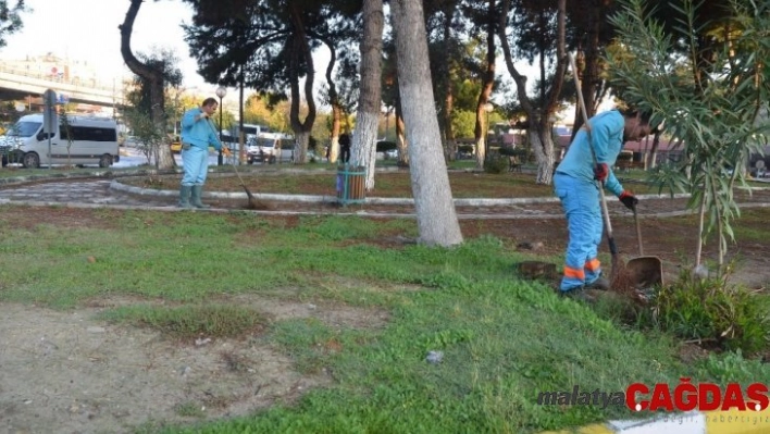
<instances>
[{"instance_id":1,"label":"man in blue uniform bending over beside a dustpan","mask_svg":"<svg viewBox=\"0 0 770 434\"><path fill-rule=\"evenodd\" d=\"M628 140L650 133L649 116L628 110L610 110L588 120L572 140L554 175L554 191L567 216L569 244L561 295L580 296L583 289L610 288L601 275L597 258L601 243L603 219L600 186L616 195L629 209L638 200L620 184L611 168Z\"/></svg>"}]
</instances>

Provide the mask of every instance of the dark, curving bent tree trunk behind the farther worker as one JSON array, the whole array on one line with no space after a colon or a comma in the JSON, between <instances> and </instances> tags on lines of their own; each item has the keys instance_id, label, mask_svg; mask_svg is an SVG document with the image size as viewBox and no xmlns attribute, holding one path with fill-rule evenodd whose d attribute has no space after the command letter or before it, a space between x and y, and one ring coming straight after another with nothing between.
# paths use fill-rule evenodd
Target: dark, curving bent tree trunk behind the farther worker
<instances>
[{"instance_id":1,"label":"dark, curving bent tree trunk behind the farther worker","mask_svg":"<svg viewBox=\"0 0 770 434\"><path fill-rule=\"evenodd\" d=\"M131 36L134 30L134 22L139 14L142 0L131 0L128 12L123 24L117 28L121 30L121 54L126 66L134 74L144 78L150 85L150 117L156 128L163 135L163 144L158 147L156 163L158 169L173 169L176 165L174 156L171 154L170 144L165 139L165 98L163 71L156 70L141 63L131 49Z\"/></svg>"}]
</instances>

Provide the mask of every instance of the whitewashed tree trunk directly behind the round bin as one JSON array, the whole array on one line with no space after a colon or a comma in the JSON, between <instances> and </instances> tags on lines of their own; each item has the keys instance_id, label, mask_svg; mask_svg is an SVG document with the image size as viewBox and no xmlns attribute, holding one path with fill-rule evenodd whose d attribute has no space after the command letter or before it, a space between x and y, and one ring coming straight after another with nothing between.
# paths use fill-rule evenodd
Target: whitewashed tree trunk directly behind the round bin
<instances>
[{"instance_id":1,"label":"whitewashed tree trunk directly behind the round bin","mask_svg":"<svg viewBox=\"0 0 770 434\"><path fill-rule=\"evenodd\" d=\"M363 1L363 38L361 39L361 88L359 91L356 134L350 147L352 165L367 168L367 191L374 189L377 128L380 127L383 27L383 0Z\"/></svg>"}]
</instances>

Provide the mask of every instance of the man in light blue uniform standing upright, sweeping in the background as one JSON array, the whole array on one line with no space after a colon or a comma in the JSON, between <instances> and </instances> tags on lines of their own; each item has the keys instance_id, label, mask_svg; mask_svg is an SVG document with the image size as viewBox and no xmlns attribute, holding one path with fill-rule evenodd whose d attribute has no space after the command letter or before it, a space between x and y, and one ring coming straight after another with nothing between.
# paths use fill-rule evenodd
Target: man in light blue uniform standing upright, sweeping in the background
<instances>
[{"instance_id":1,"label":"man in light blue uniform standing upright, sweeping in the background","mask_svg":"<svg viewBox=\"0 0 770 434\"><path fill-rule=\"evenodd\" d=\"M222 146L209 117L216 111L219 103L207 98L199 108L190 109L182 116L182 164L184 175L179 187L181 208L209 208L200 201L209 172L209 146L229 157L229 149Z\"/></svg>"}]
</instances>

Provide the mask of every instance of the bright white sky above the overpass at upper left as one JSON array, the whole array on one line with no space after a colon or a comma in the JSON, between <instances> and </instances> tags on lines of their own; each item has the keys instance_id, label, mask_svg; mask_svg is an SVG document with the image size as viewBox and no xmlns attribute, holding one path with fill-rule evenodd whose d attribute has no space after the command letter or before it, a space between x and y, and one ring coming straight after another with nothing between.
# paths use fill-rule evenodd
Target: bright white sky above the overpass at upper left
<instances>
[{"instance_id":1,"label":"bright white sky above the overpass at upper left","mask_svg":"<svg viewBox=\"0 0 770 434\"><path fill-rule=\"evenodd\" d=\"M24 59L51 52L60 58L96 65L105 82L131 77L121 55L117 26L128 11L128 0L26 0L32 12L24 13L24 27L8 36L0 59ZM152 53L154 48L171 49L179 58L183 86L213 94L215 85L206 84L196 73L184 40L183 22L191 21L191 9L178 0L145 1L134 23L134 53Z\"/></svg>"}]
</instances>

